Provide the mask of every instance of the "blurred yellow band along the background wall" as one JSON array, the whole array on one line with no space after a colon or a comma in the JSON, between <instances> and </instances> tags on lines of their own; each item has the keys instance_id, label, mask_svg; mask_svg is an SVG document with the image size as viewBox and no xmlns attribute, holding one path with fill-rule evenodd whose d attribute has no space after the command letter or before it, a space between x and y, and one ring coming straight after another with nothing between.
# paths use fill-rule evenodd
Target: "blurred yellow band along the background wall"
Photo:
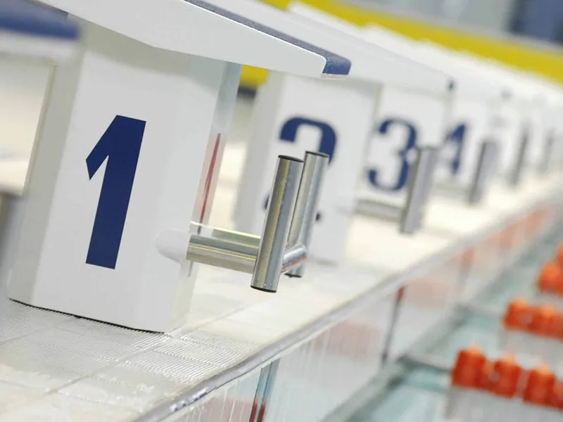
<instances>
[{"instance_id":1,"label":"blurred yellow band along the background wall","mask_svg":"<svg viewBox=\"0 0 563 422\"><path fill-rule=\"evenodd\" d=\"M285 8L291 0L262 0L279 8ZM344 4L338 0L301 0L322 11L339 16L357 25L377 24L400 32L414 39L428 39L450 49L470 51L488 58L495 58L523 70L536 72L563 83L563 52L531 46L515 39L498 39L474 34L451 27L426 23L422 20L382 13L372 9ZM265 82L267 71L243 68L241 84L258 87Z\"/></svg>"}]
</instances>

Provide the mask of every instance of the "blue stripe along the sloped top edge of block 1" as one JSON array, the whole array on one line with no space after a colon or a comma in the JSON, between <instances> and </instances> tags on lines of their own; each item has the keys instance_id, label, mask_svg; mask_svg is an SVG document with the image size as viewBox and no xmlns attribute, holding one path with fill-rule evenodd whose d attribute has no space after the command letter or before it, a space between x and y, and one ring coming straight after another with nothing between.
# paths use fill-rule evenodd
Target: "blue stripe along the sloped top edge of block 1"
<instances>
[{"instance_id":1,"label":"blue stripe along the sloped top edge of block 1","mask_svg":"<svg viewBox=\"0 0 563 422\"><path fill-rule=\"evenodd\" d=\"M93 1L93 0L89 0L89 1ZM348 60L347 58L343 58L342 56L321 49L320 47L309 44L308 42L301 41L301 39L291 37L291 35L284 34L283 32L279 32L270 27L257 23L253 20L244 18L241 15L237 15L236 13L232 13L213 4L209 4L206 1L203 0L184 0L184 1L194 4L194 6L201 7L207 11L217 13L217 15L221 15L230 20L234 20L234 22L241 23L242 25L251 27L254 30L263 32L277 39L281 39L282 41L286 41L289 44L298 46L301 49L311 51L312 53L324 57L324 59L327 60L327 64L324 66L324 70L323 70L324 75L348 75L348 73L350 73L350 68L352 64L350 63L350 60Z\"/></svg>"}]
</instances>

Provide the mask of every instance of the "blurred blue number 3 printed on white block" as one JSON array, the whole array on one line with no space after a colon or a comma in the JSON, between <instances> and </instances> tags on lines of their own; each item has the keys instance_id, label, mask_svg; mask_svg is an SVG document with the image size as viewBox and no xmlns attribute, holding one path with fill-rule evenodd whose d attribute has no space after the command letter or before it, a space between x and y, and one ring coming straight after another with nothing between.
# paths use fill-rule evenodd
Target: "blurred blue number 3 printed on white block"
<instances>
[{"instance_id":1,"label":"blurred blue number 3 printed on white block","mask_svg":"<svg viewBox=\"0 0 563 422\"><path fill-rule=\"evenodd\" d=\"M403 119L388 119L382 122L377 128L377 133L386 135L391 127L403 127L407 131L407 141L405 147L398 151L398 158L400 159L400 168L397 175L397 181L391 186L385 186L379 181L379 174L377 170L368 170L367 176L369 183L384 191L400 191L407 184L409 170L411 163L409 162L409 153L417 146L417 129L416 127Z\"/></svg>"}]
</instances>

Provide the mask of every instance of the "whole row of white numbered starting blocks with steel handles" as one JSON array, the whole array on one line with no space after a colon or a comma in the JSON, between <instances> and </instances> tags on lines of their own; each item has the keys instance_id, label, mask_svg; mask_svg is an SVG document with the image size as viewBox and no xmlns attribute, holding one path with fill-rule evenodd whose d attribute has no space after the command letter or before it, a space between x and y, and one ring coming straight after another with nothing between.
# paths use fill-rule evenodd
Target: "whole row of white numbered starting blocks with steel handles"
<instances>
[{"instance_id":1,"label":"whole row of white numbered starting blocks with steel handles","mask_svg":"<svg viewBox=\"0 0 563 422\"><path fill-rule=\"evenodd\" d=\"M563 90L547 80L298 3L40 3L0 0L2 60L52 65L29 168L0 168L13 300L167 333L197 305L201 264L266 293L315 279L310 307L335 281L344 302L434 266L387 304L416 305L383 330L412 332L383 347L398 356L558 222ZM272 72L226 215L242 65Z\"/></svg>"}]
</instances>

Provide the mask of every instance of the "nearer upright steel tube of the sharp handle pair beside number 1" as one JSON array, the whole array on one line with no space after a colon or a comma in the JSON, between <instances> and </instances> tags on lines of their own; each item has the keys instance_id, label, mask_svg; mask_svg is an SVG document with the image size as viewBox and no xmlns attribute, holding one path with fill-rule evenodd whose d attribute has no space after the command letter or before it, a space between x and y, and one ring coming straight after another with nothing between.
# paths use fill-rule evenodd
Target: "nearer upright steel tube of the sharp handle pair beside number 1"
<instances>
[{"instance_id":1,"label":"nearer upright steel tube of the sharp handle pair beside number 1","mask_svg":"<svg viewBox=\"0 0 563 422\"><path fill-rule=\"evenodd\" d=\"M260 236L252 288L271 293L277 290L302 170L303 160L279 156Z\"/></svg>"}]
</instances>

